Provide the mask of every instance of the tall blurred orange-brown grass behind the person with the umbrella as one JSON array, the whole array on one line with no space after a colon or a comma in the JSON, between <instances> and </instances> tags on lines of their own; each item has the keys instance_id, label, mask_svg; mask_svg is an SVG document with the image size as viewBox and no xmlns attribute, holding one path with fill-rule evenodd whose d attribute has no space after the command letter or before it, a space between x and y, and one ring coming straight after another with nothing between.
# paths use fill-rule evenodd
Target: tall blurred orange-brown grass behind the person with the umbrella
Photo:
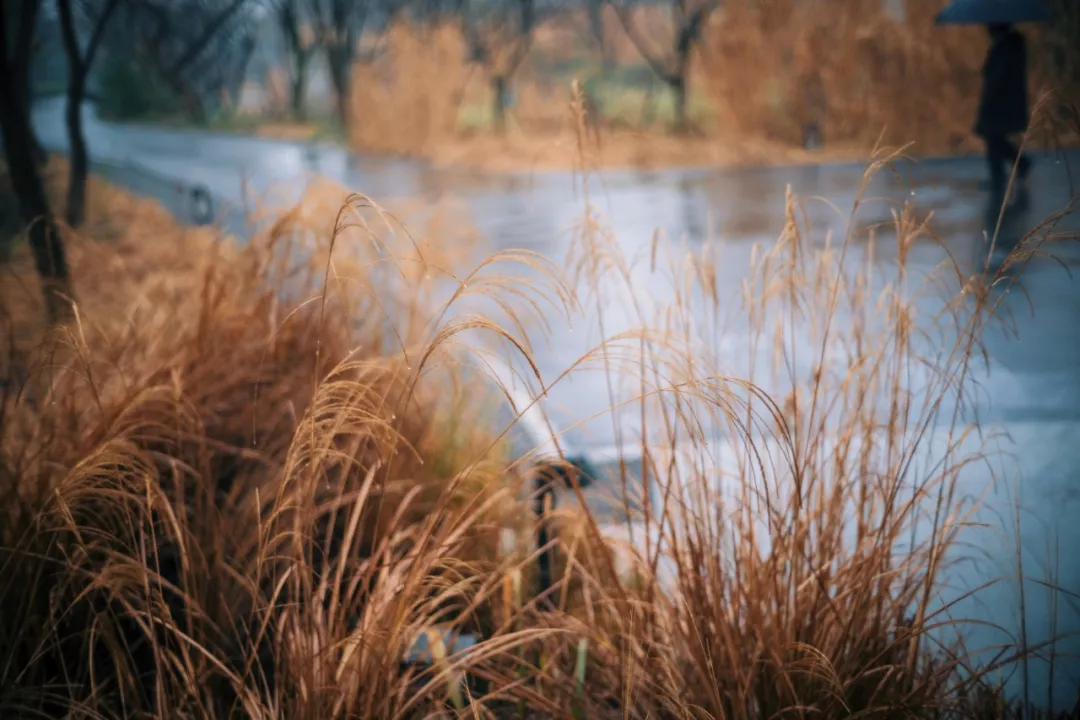
<instances>
[{"instance_id":1,"label":"tall blurred orange-brown grass behind the person with the umbrella","mask_svg":"<svg viewBox=\"0 0 1080 720\"><path fill-rule=\"evenodd\" d=\"M1049 89L1072 96L1053 68L1059 56L1065 74L1072 69L1064 49L1076 12L1065 4L1057 27L1024 28L1032 100ZM904 17L890 15L886 2L849 2L842 12L816 1L726 3L703 43L700 73L719 132L800 144L804 126L819 123L826 147L868 148L883 132L919 154L977 150L971 126L985 28L935 26L935 0L895 6ZM1030 142L1059 139L1037 133Z\"/></svg>"}]
</instances>

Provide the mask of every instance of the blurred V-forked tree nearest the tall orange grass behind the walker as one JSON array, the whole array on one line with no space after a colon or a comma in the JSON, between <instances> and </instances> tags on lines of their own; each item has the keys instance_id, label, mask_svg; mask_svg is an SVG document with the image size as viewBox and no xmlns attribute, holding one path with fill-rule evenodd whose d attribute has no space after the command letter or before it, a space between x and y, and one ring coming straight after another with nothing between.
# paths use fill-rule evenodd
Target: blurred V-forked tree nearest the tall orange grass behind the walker
<instances>
[{"instance_id":1,"label":"blurred V-forked tree nearest the tall orange grass behind the walker","mask_svg":"<svg viewBox=\"0 0 1080 720\"><path fill-rule=\"evenodd\" d=\"M622 26L626 30L637 52L642 54L645 62L672 91L675 96L675 131L685 133L689 130L687 123L687 80L690 70L690 55L701 42L702 32L713 11L716 10L717 0L671 0L662 6L669 8L671 12L671 37L665 44L666 51L654 46L648 37L642 31L638 25L638 17L635 17L635 10L651 10L654 6L646 5L633 0L616 0L613 4Z\"/></svg>"}]
</instances>

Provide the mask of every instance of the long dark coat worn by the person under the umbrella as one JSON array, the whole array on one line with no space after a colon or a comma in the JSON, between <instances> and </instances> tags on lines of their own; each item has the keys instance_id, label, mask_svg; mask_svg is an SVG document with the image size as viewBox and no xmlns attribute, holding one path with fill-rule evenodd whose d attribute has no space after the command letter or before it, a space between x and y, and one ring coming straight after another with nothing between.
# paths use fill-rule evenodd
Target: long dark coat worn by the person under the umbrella
<instances>
[{"instance_id":1,"label":"long dark coat worn by the person under the umbrella","mask_svg":"<svg viewBox=\"0 0 1080 720\"><path fill-rule=\"evenodd\" d=\"M983 94L975 134L994 137L1023 133L1027 108L1027 45L1024 36L1008 30L990 46L983 64Z\"/></svg>"}]
</instances>

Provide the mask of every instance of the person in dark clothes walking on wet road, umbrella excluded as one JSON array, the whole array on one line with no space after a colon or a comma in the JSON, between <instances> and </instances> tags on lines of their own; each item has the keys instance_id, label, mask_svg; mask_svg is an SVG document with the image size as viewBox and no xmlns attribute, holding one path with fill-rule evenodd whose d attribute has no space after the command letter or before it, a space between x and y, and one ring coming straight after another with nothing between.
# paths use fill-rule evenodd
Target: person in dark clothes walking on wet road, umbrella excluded
<instances>
[{"instance_id":1,"label":"person in dark clothes walking on wet road, umbrella excluded","mask_svg":"<svg viewBox=\"0 0 1080 720\"><path fill-rule=\"evenodd\" d=\"M1024 180L1031 160L1021 154L1010 135L1026 133L1030 121L1027 105L1027 44L1012 25L987 25L990 50L983 64L983 92L978 100L975 135L986 144L990 191L1003 198L1012 167Z\"/></svg>"}]
</instances>

